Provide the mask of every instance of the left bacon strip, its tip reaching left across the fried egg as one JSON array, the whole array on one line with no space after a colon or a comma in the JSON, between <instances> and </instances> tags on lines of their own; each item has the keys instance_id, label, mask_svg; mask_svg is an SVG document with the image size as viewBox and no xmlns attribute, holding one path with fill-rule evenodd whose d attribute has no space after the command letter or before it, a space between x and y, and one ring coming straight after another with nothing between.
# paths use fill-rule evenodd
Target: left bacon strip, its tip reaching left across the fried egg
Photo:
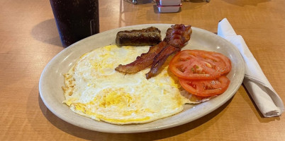
<instances>
[{"instance_id":1,"label":"left bacon strip, its tip reaching left across the fried egg","mask_svg":"<svg viewBox=\"0 0 285 141\"><path fill-rule=\"evenodd\" d=\"M150 50L141 54L135 59L132 63L128 63L126 65L119 65L115 68L116 71L121 73L137 73L152 65L153 59L155 56L160 53L160 51L167 45L166 42L160 42L159 44L150 47Z\"/></svg>"}]
</instances>

